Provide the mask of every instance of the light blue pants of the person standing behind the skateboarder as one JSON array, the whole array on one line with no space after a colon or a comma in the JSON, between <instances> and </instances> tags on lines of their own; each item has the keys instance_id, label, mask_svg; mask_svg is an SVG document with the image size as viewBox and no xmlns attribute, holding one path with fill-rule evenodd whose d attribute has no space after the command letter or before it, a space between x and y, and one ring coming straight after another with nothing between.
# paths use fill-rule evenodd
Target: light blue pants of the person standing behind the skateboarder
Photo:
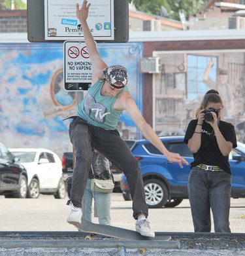
<instances>
[{"instance_id":1,"label":"light blue pants of the person standing behind the skateboarder","mask_svg":"<svg viewBox=\"0 0 245 256\"><path fill-rule=\"evenodd\" d=\"M82 198L82 219L91 222L92 200L94 200L99 224L110 225L110 198L112 193L93 192L90 187L91 179L88 179Z\"/></svg>"}]
</instances>

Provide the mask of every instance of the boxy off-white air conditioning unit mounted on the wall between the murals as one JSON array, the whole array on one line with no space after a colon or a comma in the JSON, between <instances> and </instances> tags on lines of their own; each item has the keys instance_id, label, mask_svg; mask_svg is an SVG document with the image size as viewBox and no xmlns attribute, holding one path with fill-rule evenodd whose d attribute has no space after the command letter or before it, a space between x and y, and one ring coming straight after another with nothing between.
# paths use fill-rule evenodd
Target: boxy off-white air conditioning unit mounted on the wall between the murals
<instances>
[{"instance_id":1,"label":"boxy off-white air conditioning unit mounted on the wall between the murals","mask_svg":"<svg viewBox=\"0 0 245 256\"><path fill-rule=\"evenodd\" d=\"M161 60L159 57L147 57L140 60L141 73L160 73Z\"/></svg>"}]
</instances>

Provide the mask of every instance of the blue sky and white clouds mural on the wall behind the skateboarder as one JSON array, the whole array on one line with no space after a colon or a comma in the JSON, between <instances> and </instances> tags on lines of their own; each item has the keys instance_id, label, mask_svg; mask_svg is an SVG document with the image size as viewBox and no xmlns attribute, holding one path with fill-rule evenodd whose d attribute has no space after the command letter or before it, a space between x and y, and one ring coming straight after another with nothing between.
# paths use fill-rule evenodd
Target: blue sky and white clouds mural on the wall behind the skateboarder
<instances>
[{"instance_id":1,"label":"blue sky and white clouds mural on the wall behind the skateboarder","mask_svg":"<svg viewBox=\"0 0 245 256\"><path fill-rule=\"evenodd\" d=\"M142 43L98 45L106 64L125 64L130 92L142 110ZM59 156L72 151L69 120L76 115L78 92L63 89L63 44L0 44L0 141L7 147L45 147ZM79 92L80 93L80 92ZM140 138L139 130L123 113L122 137Z\"/></svg>"}]
</instances>

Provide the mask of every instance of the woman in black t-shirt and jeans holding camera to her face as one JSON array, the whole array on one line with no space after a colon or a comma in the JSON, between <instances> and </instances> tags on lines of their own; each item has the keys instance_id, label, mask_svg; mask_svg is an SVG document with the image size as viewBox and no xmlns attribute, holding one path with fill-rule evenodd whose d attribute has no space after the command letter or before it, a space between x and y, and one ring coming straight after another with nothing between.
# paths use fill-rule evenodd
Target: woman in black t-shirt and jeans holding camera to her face
<instances>
[{"instance_id":1,"label":"woman in black t-shirt and jeans holding camera to her face","mask_svg":"<svg viewBox=\"0 0 245 256\"><path fill-rule=\"evenodd\" d=\"M231 232L229 153L237 147L237 139L233 124L221 120L222 109L218 92L208 91L184 138L194 157L188 193L195 232L211 231L210 208L215 232Z\"/></svg>"}]
</instances>

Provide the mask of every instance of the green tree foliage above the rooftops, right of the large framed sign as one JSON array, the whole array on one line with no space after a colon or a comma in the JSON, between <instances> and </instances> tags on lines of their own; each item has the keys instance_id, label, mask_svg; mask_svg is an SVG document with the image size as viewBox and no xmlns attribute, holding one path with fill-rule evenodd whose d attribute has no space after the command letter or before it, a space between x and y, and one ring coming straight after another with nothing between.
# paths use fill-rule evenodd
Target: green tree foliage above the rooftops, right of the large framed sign
<instances>
[{"instance_id":1,"label":"green tree foliage above the rooftops, right of the large framed sign","mask_svg":"<svg viewBox=\"0 0 245 256\"><path fill-rule=\"evenodd\" d=\"M203 7L208 0L128 0L137 10L180 20L179 12L191 16Z\"/></svg>"}]
</instances>

